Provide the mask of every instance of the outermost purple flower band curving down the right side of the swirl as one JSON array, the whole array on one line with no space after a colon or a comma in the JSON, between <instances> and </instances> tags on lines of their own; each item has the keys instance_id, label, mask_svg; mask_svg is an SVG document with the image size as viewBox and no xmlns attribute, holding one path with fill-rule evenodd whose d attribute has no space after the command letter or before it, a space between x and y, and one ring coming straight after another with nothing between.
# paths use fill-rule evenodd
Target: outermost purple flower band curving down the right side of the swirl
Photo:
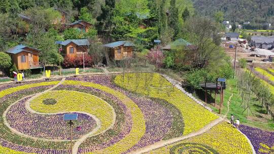
<instances>
[{"instance_id":1,"label":"outermost purple flower band curving down the right side of the swirl","mask_svg":"<svg viewBox=\"0 0 274 154\"><path fill-rule=\"evenodd\" d=\"M165 106L154 102L151 99L132 94L117 87L112 84L112 76L110 75L81 76L77 78L69 77L66 78L66 80L93 82L110 87L124 93L139 106L146 120L146 133L136 145L125 151L125 153L160 141L164 138L168 131L170 131L173 115Z\"/></svg>"}]
</instances>

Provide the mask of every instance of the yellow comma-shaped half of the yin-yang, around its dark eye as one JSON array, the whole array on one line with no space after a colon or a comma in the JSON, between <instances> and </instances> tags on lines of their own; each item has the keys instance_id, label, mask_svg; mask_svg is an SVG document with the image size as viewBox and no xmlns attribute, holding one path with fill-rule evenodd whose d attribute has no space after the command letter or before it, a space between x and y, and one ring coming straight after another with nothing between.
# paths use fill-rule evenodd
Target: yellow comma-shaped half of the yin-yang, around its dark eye
<instances>
[{"instance_id":1,"label":"yellow comma-shaped half of the yin-yang, around its dark eye","mask_svg":"<svg viewBox=\"0 0 274 154\"><path fill-rule=\"evenodd\" d=\"M57 101L54 105L46 105L44 99L52 98ZM90 94L76 91L50 91L30 102L33 110L42 113L58 113L65 111L83 111L95 115L101 122L101 128L96 132L104 131L114 122L114 110L106 101Z\"/></svg>"}]
</instances>

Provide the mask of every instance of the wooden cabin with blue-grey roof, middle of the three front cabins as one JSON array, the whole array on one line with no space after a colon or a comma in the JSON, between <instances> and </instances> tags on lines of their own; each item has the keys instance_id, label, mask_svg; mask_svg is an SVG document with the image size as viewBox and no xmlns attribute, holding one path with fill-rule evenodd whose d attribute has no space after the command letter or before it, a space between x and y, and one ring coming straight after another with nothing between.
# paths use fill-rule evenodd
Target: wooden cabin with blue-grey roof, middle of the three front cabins
<instances>
[{"instance_id":1,"label":"wooden cabin with blue-grey roof, middle of the three front cabins","mask_svg":"<svg viewBox=\"0 0 274 154\"><path fill-rule=\"evenodd\" d=\"M89 42L87 39L81 40L66 40L63 42L55 42L62 46L64 56L75 58L82 56L83 53L88 54Z\"/></svg>"}]
</instances>

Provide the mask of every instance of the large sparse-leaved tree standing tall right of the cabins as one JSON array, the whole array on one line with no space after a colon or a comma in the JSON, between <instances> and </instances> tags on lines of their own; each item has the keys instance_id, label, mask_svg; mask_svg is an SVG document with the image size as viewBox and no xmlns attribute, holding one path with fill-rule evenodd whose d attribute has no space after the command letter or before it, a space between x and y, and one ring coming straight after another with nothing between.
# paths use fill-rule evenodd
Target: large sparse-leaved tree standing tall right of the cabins
<instances>
[{"instance_id":1,"label":"large sparse-leaved tree standing tall right of the cabins","mask_svg":"<svg viewBox=\"0 0 274 154\"><path fill-rule=\"evenodd\" d=\"M185 32L197 50L193 52L192 65L194 68L203 68L210 62L218 61L223 57L220 54L221 36L216 24L206 17L193 17L187 20Z\"/></svg>"}]
</instances>

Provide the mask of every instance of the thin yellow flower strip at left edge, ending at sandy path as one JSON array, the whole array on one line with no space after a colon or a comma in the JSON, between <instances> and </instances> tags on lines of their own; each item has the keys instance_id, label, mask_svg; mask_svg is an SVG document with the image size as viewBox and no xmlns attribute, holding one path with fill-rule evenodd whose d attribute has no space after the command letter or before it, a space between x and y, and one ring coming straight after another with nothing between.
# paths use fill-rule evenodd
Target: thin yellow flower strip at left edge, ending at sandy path
<instances>
[{"instance_id":1,"label":"thin yellow flower strip at left edge, ending at sandy path","mask_svg":"<svg viewBox=\"0 0 274 154\"><path fill-rule=\"evenodd\" d=\"M42 83L35 83L35 84L28 84L28 85L23 85L23 86L18 86L18 87L13 87L9 89L5 89L0 92L0 98L4 97L6 95L12 94L14 92L28 89L28 88L33 88L33 87L39 87L39 86L49 86L49 85L56 85L58 84L59 81L53 81L53 82L42 82Z\"/></svg>"}]
</instances>

